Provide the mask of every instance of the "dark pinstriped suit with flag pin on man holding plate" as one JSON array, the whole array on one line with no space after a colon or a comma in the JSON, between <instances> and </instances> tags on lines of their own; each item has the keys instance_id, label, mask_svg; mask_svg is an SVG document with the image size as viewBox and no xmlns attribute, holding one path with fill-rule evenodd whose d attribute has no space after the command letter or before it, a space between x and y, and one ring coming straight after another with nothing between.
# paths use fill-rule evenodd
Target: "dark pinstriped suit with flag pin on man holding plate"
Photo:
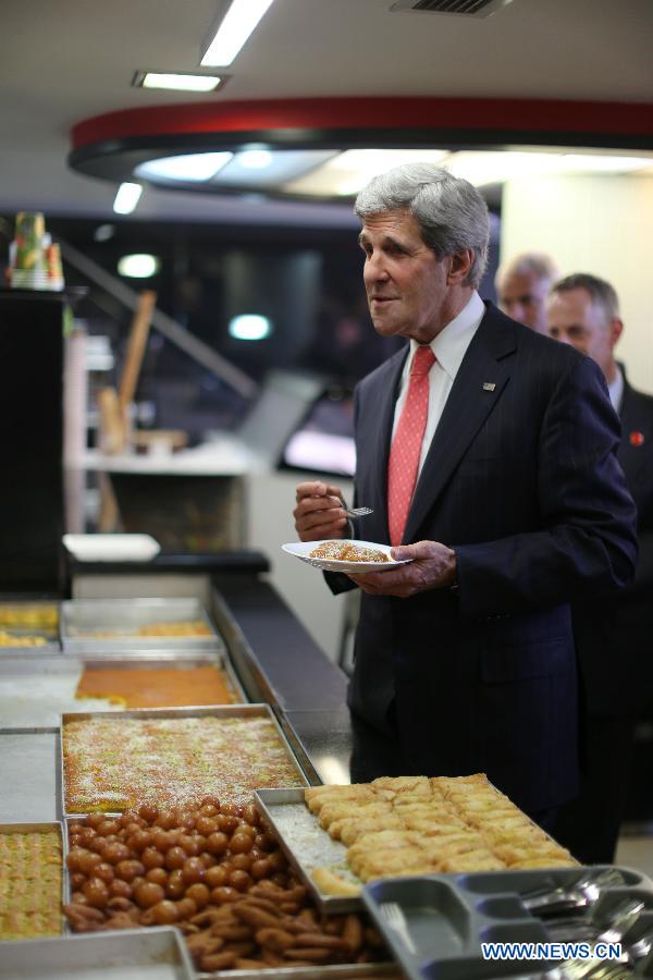
<instances>
[{"instance_id":1,"label":"dark pinstriped suit with flag pin on man holding plate","mask_svg":"<svg viewBox=\"0 0 653 980\"><path fill-rule=\"evenodd\" d=\"M383 731L394 700L412 772L484 771L532 811L576 792L568 603L630 580L634 507L600 369L486 306L405 532L405 542L456 550L459 589L362 595L349 705ZM374 509L359 529L370 541L389 541L387 457L405 357L356 391L356 498Z\"/></svg>"}]
</instances>

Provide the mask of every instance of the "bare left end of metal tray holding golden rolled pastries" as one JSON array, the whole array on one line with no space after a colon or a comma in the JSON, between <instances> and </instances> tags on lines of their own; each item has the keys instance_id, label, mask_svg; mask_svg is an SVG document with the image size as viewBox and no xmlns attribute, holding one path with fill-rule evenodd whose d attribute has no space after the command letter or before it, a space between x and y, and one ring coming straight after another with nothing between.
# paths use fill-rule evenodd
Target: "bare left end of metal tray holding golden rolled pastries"
<instances>
[{"instance_id":1,"label":"bare left end of metal tray holding golden rolled pastries","mask_svg":"<svg viewBox=\"0 0 653 980\"><path fill-rule=\"evenodd\" d=\"M333 841L322 830L304 801L304 791L257 789L254 798L318 905L329 912L358 911L362 905L359 896L326 895L312 879L313 868L335 866L338 873L362 889L362 882L347 866L348 848L341 841Z\"/></svg>"}]
</instances>

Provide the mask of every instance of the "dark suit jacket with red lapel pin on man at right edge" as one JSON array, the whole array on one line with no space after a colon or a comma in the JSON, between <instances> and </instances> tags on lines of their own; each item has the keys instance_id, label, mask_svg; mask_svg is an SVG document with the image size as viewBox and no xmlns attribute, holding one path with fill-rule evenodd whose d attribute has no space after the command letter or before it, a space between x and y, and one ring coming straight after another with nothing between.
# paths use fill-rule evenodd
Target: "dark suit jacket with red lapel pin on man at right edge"
<instances>
[{"instance_id":1,"label":"dark suit jacket with red lapel pin on man at right edge","mask_svg":"<svg viewBox=\"0 0 653 980\"><path fill-rule=\"evenodd\" d=\"M653 702L653 397L626 380L619 416L617 456L638 510L636 577L606 601L574 607L586 705L604 715L631 715Z\"/></svg>"}]
</instances>

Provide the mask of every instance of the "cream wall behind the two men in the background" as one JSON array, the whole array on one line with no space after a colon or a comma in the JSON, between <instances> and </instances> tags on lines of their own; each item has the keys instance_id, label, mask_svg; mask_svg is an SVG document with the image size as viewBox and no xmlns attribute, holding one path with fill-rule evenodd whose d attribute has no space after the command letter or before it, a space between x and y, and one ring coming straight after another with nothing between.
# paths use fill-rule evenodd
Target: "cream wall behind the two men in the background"
<instances>
[{"instance_id":1,"label":"cream wall behind the two men in the background","mask_svg":"<svg viewBox=\"0 0 653 980\"><path fill-rule=\"evenodd\" d=\"M563 275L592 272L616 289L625 330L617 356L653 392L653 176L551 176L504 186L501 258L546 252Z\"/></svg>"}]
</instances>

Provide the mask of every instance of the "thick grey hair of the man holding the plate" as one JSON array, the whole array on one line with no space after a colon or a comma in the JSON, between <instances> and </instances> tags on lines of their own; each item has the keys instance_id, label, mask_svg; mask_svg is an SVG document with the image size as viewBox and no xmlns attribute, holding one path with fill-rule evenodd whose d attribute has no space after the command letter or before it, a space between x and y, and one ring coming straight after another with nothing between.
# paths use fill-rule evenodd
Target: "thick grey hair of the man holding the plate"
<instances>
[{"instance_id":1,"label":"thick grey hair of the man holding the plate","mask_svg":"<svg viewBox=\"0 0 653 980\"><path fill-rule=\"evenodd\" d=\"M488 264L488 206L477 188L431 163L406 163L372 177L358 194L354 210L360 219L382 211L407 210L422 240L439 259L465 248L473 253L466 285L479 285Z\"/></svg>"}]
</instances>

